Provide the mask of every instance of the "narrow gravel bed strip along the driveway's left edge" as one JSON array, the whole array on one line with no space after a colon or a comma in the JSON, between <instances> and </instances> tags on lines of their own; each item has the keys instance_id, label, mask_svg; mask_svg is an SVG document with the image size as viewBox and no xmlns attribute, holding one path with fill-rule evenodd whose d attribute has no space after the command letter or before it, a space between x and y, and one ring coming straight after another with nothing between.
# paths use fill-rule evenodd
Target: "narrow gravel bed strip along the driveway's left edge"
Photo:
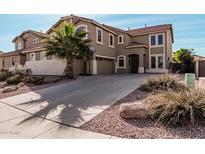
<instances>
[{"instance_id":1,"label":"narrow gravel bed strip along the driveway's left edge","mask_svg":"<svg viewBox=\"0 0 205 154\"><path fill-rule=\"evenodd\" d=\"M19 89L16 91L12 91L12 92L8 92L8 93L2 93L0 91L0 99L23 94L23 93L30 92L30 91L35 91L35 90L40 90L40 89L52 87L52 86L63 84L63 83L70 82L70 81L71 80L61 80L58 82L46 82L45 84L38 85L38 86L33 85L33 84L25 84L25 85L19 87ZM2 82L0 84L2 84Z\"/></svg>"}]
</instances>

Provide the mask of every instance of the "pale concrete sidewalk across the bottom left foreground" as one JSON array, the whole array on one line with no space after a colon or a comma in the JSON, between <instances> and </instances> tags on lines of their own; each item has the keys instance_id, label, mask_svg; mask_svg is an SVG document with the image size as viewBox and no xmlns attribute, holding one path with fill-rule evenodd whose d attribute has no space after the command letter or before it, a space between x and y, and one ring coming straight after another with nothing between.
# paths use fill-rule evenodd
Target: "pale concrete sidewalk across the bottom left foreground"
<instances>
[{"instance_id":1,"label":"pale concrete sidewalk across the bottom left foreground","mask_svg":"<svg viewBox=\"0 0 205 154\"><path fill-rule=\"evenodd\" d=\"M18 139L112 139L110 135L103 135L80 130L42 118L25 120L29 113L23 112L0 102L0 138Z\"/></svg>"}]
</instances>

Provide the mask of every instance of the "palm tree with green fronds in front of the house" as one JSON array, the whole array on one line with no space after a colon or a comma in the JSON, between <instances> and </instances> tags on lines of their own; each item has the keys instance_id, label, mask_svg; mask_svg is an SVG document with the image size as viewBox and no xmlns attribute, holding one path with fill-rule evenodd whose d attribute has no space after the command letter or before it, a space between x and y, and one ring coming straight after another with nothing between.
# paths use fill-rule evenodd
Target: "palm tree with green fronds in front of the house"
<instances>
[{"instance_id":1,"label":"palm tree with green fronds in front of the house","mask_svg":"<svg viewBox=\"0 0 205 154\"><path fill-rule=\"evenodd\" d=\"M46 56L54 55L60 60L66 61L64 76L72 79L73 60L77 57L89 60L92 53L88 43L90 40L84 39L87 33L84 30L76 31L71 24L64 22L58 29L53 29L53 35L46 40Z\"/></svg>"}]
</instances>

